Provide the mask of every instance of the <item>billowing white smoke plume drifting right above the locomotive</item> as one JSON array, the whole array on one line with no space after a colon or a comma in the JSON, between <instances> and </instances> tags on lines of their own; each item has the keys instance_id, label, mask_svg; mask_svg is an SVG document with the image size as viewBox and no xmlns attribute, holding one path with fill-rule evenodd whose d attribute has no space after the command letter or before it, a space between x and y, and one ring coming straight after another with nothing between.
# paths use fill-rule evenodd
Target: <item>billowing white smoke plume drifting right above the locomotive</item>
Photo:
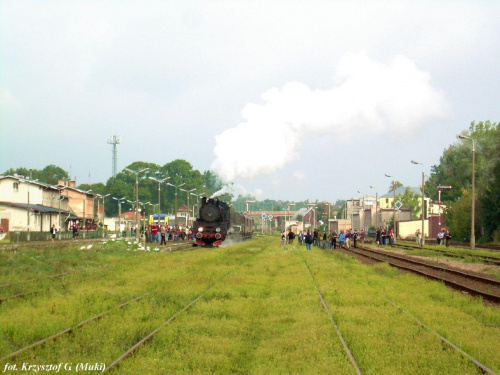
<instances>
[{"instance_id":1,"label":"billowing white smoke plume drifting right above the locomotive","mask_svg":"<svg viewBox=\"0 0 500 375\"><path fill-rule=\"evenodd\" d=\"M357 129L400 134L448 114L429 74L403 56L382 64L362 52L345 55L334 82L327 90L290 82L264 92L262 104L248 103L244 122L215 137L212 169L224 182L270 174L298 157L311 132L341 139Z\"/></svg>"}]
</instances>

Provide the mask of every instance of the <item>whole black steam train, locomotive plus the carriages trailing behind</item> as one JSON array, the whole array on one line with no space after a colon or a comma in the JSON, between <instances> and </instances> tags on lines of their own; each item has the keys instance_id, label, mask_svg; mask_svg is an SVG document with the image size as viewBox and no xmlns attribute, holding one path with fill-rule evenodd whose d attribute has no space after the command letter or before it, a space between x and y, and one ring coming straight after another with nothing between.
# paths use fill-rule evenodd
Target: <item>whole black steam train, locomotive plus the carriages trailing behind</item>
<instances>
[{"instance_id":1,"label":"whole black steam train, locomotive plus the carriages trailing behind","mask_svg":"<svg viewBox=\"0 0 500 375\"><path fill-rule=\"evenodd\" d=\"M219 246L226 238L252 237L254 219L217 198L203 198L199 217L193 223L194 243L198 246Z\"/></svg>"}]
</instances>

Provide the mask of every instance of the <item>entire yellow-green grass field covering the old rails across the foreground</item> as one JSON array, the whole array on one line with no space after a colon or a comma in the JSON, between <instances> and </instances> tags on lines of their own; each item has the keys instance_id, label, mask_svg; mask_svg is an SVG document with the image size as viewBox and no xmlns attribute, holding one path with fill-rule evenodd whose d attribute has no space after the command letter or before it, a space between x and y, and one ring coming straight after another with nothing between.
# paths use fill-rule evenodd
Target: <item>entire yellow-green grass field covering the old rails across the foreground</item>
<instances>
[{"instance_id":1,"label":"entire yellow-green grass field covering the old rails across the foreground","mask_svg":"<svg viewBox=\"0 0 500 375\"><path fill-rule=\"evenodd\" d=\"M161 327L116 373L354 374L317 287L364 374L479 372L388 299L500 371L499 308L385 264L366 266L314 247L283 250L273 237L167 253L134 251L116 242L93 250L25 252L2 255L0 285L10 278L75 272L37 281L43 291L36 296L0 305L0 358L111 312L9 363L109 364ZM34 285L0 292L27 286ZM189 310L164 324L201 294Z\"/></svg>"}]
</instances>

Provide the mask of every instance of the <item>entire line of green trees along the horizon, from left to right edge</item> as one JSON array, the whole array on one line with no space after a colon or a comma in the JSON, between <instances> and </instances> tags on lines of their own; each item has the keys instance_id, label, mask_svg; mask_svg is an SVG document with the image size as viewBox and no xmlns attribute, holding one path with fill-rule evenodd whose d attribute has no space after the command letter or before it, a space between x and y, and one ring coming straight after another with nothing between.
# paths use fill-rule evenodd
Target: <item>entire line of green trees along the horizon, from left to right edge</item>
<instances>
[{"instance_id":1,"label":"entire line of green trees along the horizon, from left to right edge","mask_svg":"<svg viewBox=\"0 0 500 375\"><path fill-rule=\"evenodd\" d=\"M440 185L452 186L452 189L442 190L441 202L447 206L443 213L447 229L453 234L454 239L464 242L470 241L471 212L472 212L472 140L474 140L475 152L475 235L478 242L499 241L500 232L500 125L490 121L475 123L472 122L469 128L461 133L467 137L463 140L449 145L444 149L439 159L439 164L431 168L430 176L425 181L425 195L434 202L439 200ZM152 204L158 203L158 182L157 180L168 178L165 183L160 184L160 204L162 213L173 213L175 208L175 191L177 190L177 207L187 203L187 193L166 185L166 182L179 186L182 189L196 189L194 193L203 196L211 196L223 186L221 180L212 171L200 172L186 160L177 159L161 166L155 163L142 161L134 162L127 166L128 169L139 171L149 168L147 173L141 174L139 182L139 201ZM69 174L64 169L48 165L42 170L17 168L9 169L4 175L14 175L15 173L38 179L40 182L57 184L58 180L69 179ZM81 184L79 189L92 189L92 193L101 195L110 194L106 198L106 216L118 214L118 203L115 198L123 198L135 201L135 179L133 173L122 170L115 177L108 179L106 183ZM392 181L389 191L393 191L402 184ZM194 197L190 196L190 202ZM335 205L328 202L310 202L308 200L299 202L289 202L281 200L257 200L252 195L239 195L234 197L226 193L219 197L226 202L232 202L236 210L246 210L246 201L256 201L251 203L252 211L282 211L288 207L289 203L293 211L307 207L314 203L318 220L328 217L340 218L343 215L344 200L335 202ZM412 219L417 219L418 212L421 212L419 195L407 187L403 195L397 195L397 200L401 200L404 207L412 211ZM192 204L190 203L192 208ZM125 202L122 210L132 208L132 203ZM148 207L152 212L153 208ZM156 211L155 211L156 212Z\"/></svg>"}]
</instances>

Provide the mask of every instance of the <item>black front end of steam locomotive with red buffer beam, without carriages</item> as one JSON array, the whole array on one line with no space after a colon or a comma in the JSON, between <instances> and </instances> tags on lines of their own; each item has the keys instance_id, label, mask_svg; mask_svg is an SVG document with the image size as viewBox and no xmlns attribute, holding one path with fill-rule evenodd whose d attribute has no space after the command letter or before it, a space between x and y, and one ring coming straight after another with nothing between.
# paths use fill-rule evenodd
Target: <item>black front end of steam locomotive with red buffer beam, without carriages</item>
<instances>
[{"instance_id":1,"label":"black front end of steam locomotive with red buffer beam, without carriages","mask_svg":"<svg viewBox=\"0 0 500 375\"><path fill-rule=\"evenodd\" d=\"M193 224L195 244L219 246L226 239L229 227L229 206L216 198L203 198L199 218Z\"/></svg>"}]
</instances>

